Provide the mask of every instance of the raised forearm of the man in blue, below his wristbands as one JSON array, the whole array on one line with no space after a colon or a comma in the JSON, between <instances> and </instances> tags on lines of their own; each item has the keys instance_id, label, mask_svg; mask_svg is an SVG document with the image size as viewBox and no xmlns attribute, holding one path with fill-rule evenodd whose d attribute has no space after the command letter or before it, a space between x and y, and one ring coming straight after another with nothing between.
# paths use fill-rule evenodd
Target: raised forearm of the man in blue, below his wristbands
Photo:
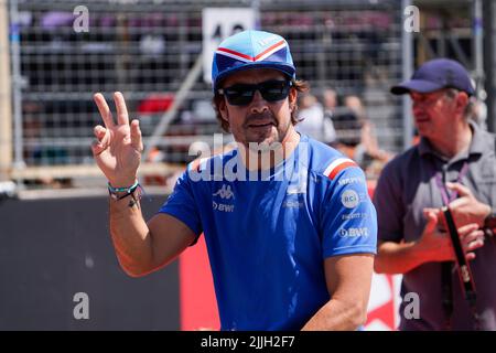
<instances>
[{"instance_id":1,"label":"raised forearm of the man in blue, below his wristbands","mask_svg":"<svg viewBox=\"0 0 496 353\"><path fill-rule=\"evenodd\" d=\"M152 238L138 199L109 200L110 234L122 269L138 277L153 268Z\"/></svg>"}]
</instances>

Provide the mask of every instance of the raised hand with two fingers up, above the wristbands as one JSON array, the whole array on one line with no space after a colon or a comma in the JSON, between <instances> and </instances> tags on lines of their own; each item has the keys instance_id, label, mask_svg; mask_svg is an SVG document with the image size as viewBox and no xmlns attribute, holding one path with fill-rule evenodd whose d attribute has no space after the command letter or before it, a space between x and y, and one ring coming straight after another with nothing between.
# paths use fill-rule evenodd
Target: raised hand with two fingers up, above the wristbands
<instances>
[{"instance_id":1,"label":"raised hand with two fingers up, above the wristbands","mask_svg":"<svg viewBox=\"0 0 496 353\"><path fill-rule=\"evenodd\" d=\"M94 95L105 127L94 128L97 141L91 145L93 156L114 188L127 188L134 183L141 161L143 142L138 120L129 124L128 108L120 92L114 94L117 125L110 108L100 93Z\"/></svg>"}]
</instances>

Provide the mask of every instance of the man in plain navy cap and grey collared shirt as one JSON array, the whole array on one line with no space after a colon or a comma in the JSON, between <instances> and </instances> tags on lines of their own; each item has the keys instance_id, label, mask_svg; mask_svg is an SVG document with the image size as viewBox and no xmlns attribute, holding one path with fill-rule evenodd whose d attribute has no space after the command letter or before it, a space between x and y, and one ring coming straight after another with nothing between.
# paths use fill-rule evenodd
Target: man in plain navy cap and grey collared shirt
<instances>
[{"instance_id":1,"label":"man in plain navy cap and grey collared shirt","mask_svg":"<svg viewBox=\"0 0 496 353\"><path fill-rule=\"evenodd\" d=\"M391 88L409 94L421 137L389 162L375 191L378 272L403 274L401 295L419 297L400 306L400 330L496 330L495 136L470 120L474 88L457 62L424 63ZM466 300L446 233L449 205L475 282Z\"/></svg>"}]
</instances>

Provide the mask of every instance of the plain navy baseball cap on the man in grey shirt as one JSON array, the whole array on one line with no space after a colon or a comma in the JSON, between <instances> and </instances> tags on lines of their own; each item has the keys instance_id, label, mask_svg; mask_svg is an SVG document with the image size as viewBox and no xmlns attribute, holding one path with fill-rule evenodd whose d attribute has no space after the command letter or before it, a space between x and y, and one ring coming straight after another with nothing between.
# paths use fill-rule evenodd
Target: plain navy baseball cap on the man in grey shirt
<instances>
[{"instance_id":1,"label":"plain navy baseball cap on the man in grey shirt","mask_svg":"<svg viewBox=\"0 0 496 353\"><path fill-rule=\"evenodd\" d=\"M473 96L475 90L466 69L456 61L434 58L422 64L409 81L391 87L393 95L410 90L431 93L441 88L456 88Z\"/></svg>"}]
</instances>

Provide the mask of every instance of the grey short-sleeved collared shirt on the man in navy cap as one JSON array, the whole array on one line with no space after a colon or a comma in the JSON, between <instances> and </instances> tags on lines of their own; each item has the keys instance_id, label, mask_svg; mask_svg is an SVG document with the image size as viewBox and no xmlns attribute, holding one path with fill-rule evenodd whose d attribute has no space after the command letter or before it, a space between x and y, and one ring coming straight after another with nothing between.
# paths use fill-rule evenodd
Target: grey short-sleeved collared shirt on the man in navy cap
<instances>
[{"instance_id":1,"label":"grey short-sleeved collared shirt on the man in navy cap","mask_svg":"<svg viewBox=\"0 0 496 353\"><path fill-rule=\"evenodd\" d=\"M439 156L429 141L421 142L389 162L380 178L374 195L378 217L378 239L396 242L418 239L425 226L422 210L443 205L435 174L441 172L444 181L456 181L460 171L468 170L461 178L475 197L496 208L496 157L495 136L481 130L471 122L473 139L468 150L451 160ZM477 313L481 329L496 330L496 242L486 239L475 250L476 258L471 268L477 292ZM446 318L443 311L441 263L423 264L403 275L401 296L416 292L420 299L420 319L407 319L400 306L400 330L444 330ZM474 319L465 301L457 277L452 274L453 330L473 330Z\"/></svg>"}]
</instances>

